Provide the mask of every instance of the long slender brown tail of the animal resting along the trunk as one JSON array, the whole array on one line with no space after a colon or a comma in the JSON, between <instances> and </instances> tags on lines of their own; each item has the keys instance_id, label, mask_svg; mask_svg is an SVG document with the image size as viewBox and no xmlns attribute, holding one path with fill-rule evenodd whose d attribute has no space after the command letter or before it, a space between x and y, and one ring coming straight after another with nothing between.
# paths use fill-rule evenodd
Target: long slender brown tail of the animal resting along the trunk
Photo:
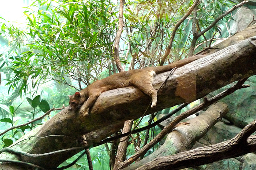
<instances>
[{"instance_id":1,"label":"long slender brown tail of the animal resting along the trunk","mask_svg":"<svg viewBox=\"0 0 256 170\"><path fill-rule=\"evenodd\" d=\"M159 67L154 67L154 72L156 74L159 74L159 73L162 73L162 72L167 72L167 71L172 70L175 67L181 67L183 65L186 65L188 63L191 63L192 61L195 61L195 60L197 60L199 58L203 58L203 57L205 57L205 55L195 55L195 56L192 56L192 57L189 57L189 58L185 58L183 60L173 62L169 65L162 65L162 66L159 66Z\"/></svg>"}]
</instances>

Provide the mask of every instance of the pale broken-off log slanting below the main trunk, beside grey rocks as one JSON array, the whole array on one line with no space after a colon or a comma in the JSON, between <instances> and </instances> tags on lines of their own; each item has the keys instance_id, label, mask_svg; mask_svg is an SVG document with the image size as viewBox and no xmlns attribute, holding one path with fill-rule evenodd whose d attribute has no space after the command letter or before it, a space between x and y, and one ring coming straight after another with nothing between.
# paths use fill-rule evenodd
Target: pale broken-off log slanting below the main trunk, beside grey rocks
<instances>
[{"instance_id":1,"label":"pale broken-off log slanting below the main trunk, beside grey rocks","mask_svg":"<svg viewBox=\"0 0 256 170\"><path fill-rule=\"evenodd\" d=\"M211 105L209 109L199 116L188 120L187 122L189 125L176 127L168 134L165 143L150 156L147 156L139 162L124 168L124 170L135 170L160 156L169 156L175 153L187 151L192 143L203 137L207 131L215 125L215 123L226 115L227 112L228 107L224 103Z\"/></svg>"}]
</instances>

